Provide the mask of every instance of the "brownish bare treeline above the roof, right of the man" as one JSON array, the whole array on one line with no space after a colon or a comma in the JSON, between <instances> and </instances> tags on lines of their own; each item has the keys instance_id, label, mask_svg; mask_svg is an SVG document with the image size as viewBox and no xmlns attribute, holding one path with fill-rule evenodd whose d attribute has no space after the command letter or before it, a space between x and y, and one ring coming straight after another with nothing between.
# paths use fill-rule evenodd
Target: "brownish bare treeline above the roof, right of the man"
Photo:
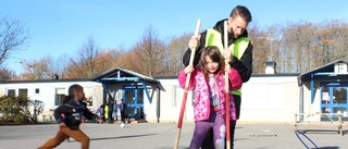
<instances>
[{"instance_id":1,"label":"brownish bare treeline above the roof, right of the man","mask_svg":"<svg viewBox=\"0 0 348 149\"><path fill-rule=\"evenodd\" d=\"M302 73L348 57L348 24L340 20L274 24L264 29L248 27L253 44L253 72L263 73L272 55L281 73ZM271 42L259 37L282 37ZM271 48L272 47L272 48ZM272 49L272 54L271 54Z\"/></svg>"}]
</instances>

